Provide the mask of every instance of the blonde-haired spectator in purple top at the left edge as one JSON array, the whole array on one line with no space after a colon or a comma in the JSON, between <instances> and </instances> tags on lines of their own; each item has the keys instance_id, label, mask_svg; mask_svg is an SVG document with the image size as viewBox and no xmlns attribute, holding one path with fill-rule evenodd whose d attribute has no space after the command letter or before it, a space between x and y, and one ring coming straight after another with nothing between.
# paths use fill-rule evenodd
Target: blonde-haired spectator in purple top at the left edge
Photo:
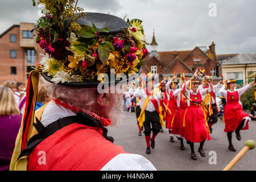
<instances>
[{"instance_id":1,"label":"blonde-haired spectator in purple top at the left edge","mask_svg":"<svg viewBox=\"0 0 256 182\"><path fill-rule=\"evenodd\" d=\"M0 86L0 171L9 169L22 115L11 89Z\"/></svg>"}]
</instances>

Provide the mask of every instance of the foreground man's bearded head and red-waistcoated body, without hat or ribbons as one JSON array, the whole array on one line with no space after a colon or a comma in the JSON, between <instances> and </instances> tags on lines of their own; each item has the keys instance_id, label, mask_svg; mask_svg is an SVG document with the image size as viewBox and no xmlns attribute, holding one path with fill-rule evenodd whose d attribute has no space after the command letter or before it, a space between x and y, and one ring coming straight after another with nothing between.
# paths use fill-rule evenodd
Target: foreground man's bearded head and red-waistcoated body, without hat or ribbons
<instances>
[{"instance_id":1,"label":"foreground man's bearded head and red-waistcoated body, without hat or ribbons","mask_svg":"<svg viewBox=\"0 0 256 182\"><path fill-rule=\"evenodd\" d=\"M47 138L28 157L28 170L155 170L146 158L126 153L107 135L105 126L117 125L123 116L122 94L46 86L52 101L36 111L36 124L43 125L42 131L57 131L45 133ZM38 163L40 151L46 151L45 165Z\"/></svg>"}]
</instances>

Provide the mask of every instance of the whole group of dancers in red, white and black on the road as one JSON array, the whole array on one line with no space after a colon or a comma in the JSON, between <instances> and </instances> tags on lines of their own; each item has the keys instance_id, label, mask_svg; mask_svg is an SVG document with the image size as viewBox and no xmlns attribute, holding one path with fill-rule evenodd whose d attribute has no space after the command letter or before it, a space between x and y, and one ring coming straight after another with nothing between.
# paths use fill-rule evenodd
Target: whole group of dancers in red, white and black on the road
<instances>
[{"instance_id":1,"label":"whole group of dancers in red, white and black on the road","mask_svg":"<svg viewBox=\"0 0 256 182\"><path fill-rule=\"evenodd\" d=\"M200 70L199 70L200 71ZM184 74L180 77L180 88L177 88L177 76L163 78L155 84L154 75L140 78L139 86L135 84L127 87L124 93L126 110L133 111L137 117L139 135L146 140L146 154L155 148L155 138L166 127L170 134L170 142L176 137L180 141L180 150L184 150L183 140L186 140L191 148L191 158L196 160L194 143L200 143L198 152L205 157L203 149L205 140L210 140L213 125L218 121L220 115L219 103L221 95L224 104L223 121L225 133L227 133L230 151L236 151L232 144L232 133L241 140L240 130L249 129L248 122L255 120L256 104L250 114L246 114L241 105L240 96L255 82L251 82L240 89L236 89L237 81L221 79L213 85L211 76L196 71L189 80ZM202 78L200 78L202 77Z\"/></svg>"}]
</instances>

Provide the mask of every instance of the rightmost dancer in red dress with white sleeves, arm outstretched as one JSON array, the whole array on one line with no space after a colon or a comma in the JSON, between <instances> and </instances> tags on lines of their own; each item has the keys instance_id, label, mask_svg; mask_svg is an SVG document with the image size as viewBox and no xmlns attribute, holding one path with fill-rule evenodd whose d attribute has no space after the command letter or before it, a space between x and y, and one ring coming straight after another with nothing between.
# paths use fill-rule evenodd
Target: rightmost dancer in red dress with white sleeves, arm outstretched
<instances>
[{"instance_id":1,"label":"rightmost dancer in red dress with white sleeves, arm outstretched","mask_svg":"<svg viewBox=\"0 0 256 182\"><path fill-rule=\"evenodd\" d=\"M240 96L246 90L250 89L251 86L255 85L256 82L251 82L240 89L236 89L237 81L236 79L232 79L227 80L226 85L224 84L220 89L220 93L226 98L223 121L225 123L224 131L228 135L230 151L236 151L236 148L232 144L232 133L235 131L237 139L241 140L240 130L249 129L248 122L251 121L250 116L243 112L240 104Z\"/></svg>"}]
</instances>

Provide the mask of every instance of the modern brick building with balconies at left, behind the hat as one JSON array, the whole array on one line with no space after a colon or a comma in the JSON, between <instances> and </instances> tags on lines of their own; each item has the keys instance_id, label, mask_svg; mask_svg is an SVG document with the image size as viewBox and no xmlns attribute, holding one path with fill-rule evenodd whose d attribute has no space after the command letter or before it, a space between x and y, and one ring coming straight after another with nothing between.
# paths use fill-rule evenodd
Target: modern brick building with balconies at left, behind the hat
<instances>
[{"instance_id":1,"label":"modern brick building with balconies at left, behind the hat","mask_svg":"<svg viewBox=\"0 0 256 182\"><path fill-rule=\"evenodd\" d=\"M42 49L31 30L34 23L20 23L0 34L0 85L6 80L26 82L28 73L40 61Z\"/></svg>"}]
</instances>

